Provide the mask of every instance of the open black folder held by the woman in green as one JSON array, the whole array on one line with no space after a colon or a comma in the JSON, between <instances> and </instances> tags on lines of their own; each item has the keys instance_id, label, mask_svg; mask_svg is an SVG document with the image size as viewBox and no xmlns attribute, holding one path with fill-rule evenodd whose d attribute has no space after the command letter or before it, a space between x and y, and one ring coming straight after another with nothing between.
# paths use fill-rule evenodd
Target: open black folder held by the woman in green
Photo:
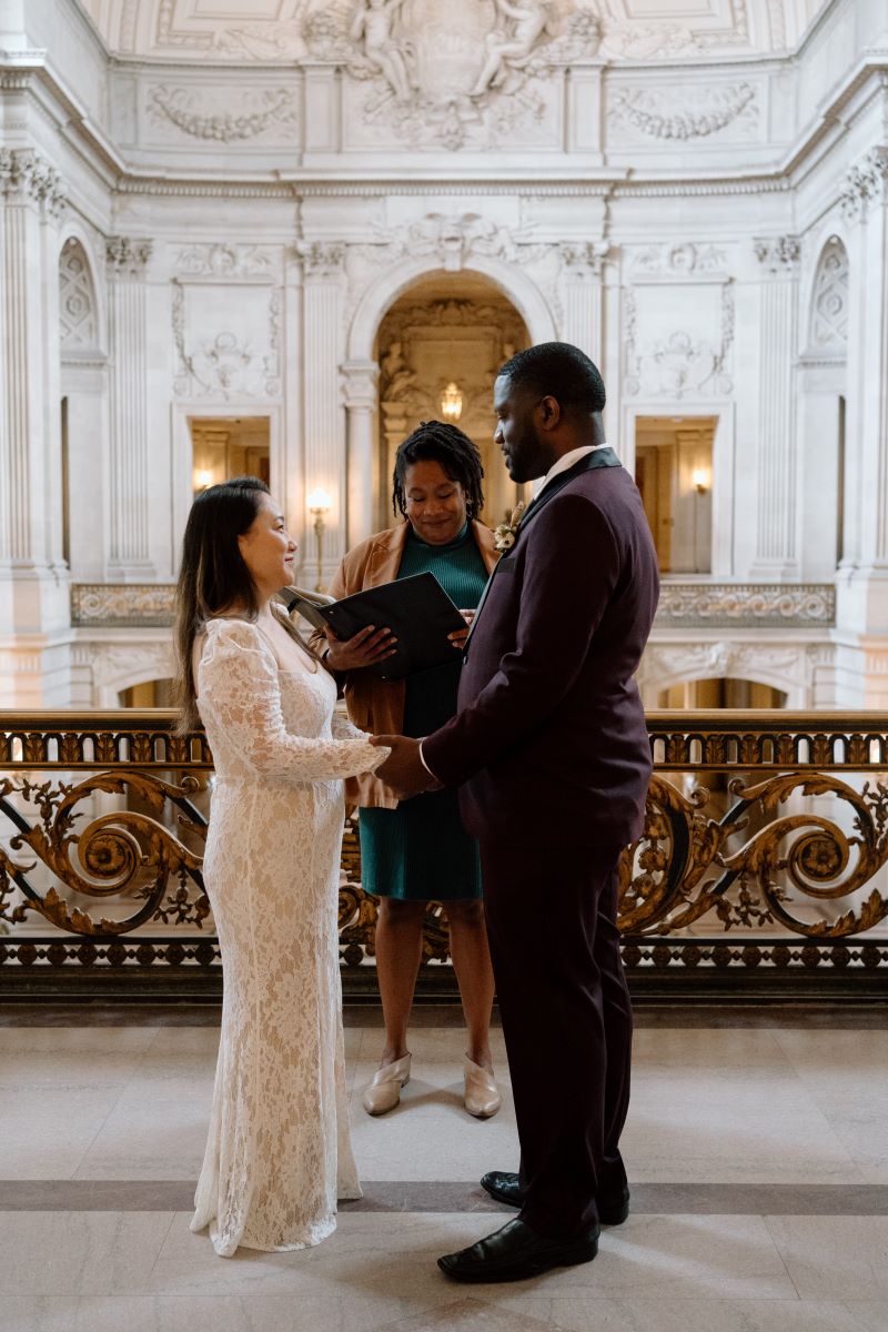
<instances>
[{"instance_id":1,"label":"open black folder held by the woman in green","mask_svg":"<svg viewBox=\"0 0 888 1332\"><path fill-rule=\"evenodd\" d=\"M367 625L390 629L398 639L394 655L365 667L381 679L403 679L415 671L459 661L447 634L465 629L466 622L434 574L398 578L328 606L297 598L288 609L298 610L317 627L326 622L337 638L353 638Z\"/></svg>"}]
</instances>

